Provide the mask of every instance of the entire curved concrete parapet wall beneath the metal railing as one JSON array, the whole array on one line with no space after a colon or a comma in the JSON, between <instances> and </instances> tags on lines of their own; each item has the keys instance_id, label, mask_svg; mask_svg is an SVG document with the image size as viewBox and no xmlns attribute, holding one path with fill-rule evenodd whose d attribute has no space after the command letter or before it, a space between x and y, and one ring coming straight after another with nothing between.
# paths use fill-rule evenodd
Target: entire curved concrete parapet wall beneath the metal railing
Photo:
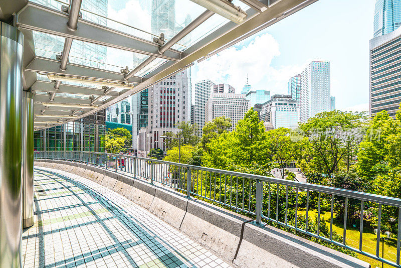
<instances>
[{"instance_id":1,"label":"entire curved concrete parapet wall beneath the metal railing","mask_svg":"<svg viewBox=\"0 0 401 268\"><path fill-rule=\"evenodd\" d=\"M35 164L72 165L72 162L44 161ZM91 165L76 163L71 170L149 209L236 267L370 267L367 262L280 229L256 225L251 218L194 198L187 199L170 189Z\"/></svg>"}]
</instances>

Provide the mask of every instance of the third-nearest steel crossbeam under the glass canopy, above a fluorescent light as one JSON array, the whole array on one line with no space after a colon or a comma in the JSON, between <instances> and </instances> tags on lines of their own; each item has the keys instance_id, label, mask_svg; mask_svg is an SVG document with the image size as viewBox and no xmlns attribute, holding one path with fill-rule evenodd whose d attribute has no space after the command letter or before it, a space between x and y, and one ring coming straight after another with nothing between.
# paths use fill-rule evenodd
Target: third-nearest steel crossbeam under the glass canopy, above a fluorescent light
<instances>
[{"instance_id":1,"label":"third-nearest steel crossbeam under the glass canopy, above a fluorescent light","mask_svg":"<svg viewBox=\"0 0 401 268\"><path fill-rule=\"evenodd\" d=\"M91 87L73 86L67 84L61 84L59 89L54 88L54 83L46 81L36 81L32 86L32 91L41 92L57 92L66 94L76 95L94 95L94 96L106 96L105 90ZM108 96L118 96L118 92L112 91L107 94Z\"/></svg>"}]
</instances>

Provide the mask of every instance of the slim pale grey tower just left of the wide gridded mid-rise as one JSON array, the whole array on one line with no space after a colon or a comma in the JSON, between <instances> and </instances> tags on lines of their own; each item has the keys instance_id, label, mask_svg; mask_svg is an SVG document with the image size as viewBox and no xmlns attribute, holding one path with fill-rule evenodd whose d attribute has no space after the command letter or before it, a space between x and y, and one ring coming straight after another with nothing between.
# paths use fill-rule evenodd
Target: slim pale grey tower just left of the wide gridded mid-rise
<instances>
[{"instance_id":1,"label":"slim pale grey tower just left of the wide gridded mid-rise","mask_svg":"<svg viewBox=\"0 0 401 268\"><path fill-rule=\"evenodd\" d=\"M205 125L205 105L213 92L214 85L215 83L211 80L195 83L195 123L197 127L196 135L199 137L202 137L202 128Z\"/></svg>"}]
</instances>

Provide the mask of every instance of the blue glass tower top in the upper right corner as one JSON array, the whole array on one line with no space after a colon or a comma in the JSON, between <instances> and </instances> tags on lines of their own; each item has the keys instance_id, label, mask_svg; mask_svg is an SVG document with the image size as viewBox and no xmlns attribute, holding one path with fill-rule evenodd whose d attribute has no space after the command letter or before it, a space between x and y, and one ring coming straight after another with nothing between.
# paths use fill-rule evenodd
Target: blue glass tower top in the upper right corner
<instances>
[{"instance_id":1,"label":"blue glass tower top in the upper right corner","mask_svg":"<svg viewBox=\"0 0 401 268\"><path fill-rule=\"evenodd\" d=\"M373 37L386 35L401 25L401 2L377 0L374 6Z\"/></svg>"}]
</instances>

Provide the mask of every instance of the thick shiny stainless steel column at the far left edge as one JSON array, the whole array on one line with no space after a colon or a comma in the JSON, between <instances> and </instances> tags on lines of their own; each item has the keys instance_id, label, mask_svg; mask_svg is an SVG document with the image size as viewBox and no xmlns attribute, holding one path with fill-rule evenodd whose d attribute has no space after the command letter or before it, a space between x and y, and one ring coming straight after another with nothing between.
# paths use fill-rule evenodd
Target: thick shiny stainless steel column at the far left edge
<instances>
[{"instance_id":1,"label":"thick shiny stainless steel column at the far left edge","mask_svg":"<svg viewBox=\"0 0 401 268\"><path fill-rule=\"evenodd\" d=\"M0 267L21 267L23 35L0 22Z\"/></svg>"}]
</instances>

